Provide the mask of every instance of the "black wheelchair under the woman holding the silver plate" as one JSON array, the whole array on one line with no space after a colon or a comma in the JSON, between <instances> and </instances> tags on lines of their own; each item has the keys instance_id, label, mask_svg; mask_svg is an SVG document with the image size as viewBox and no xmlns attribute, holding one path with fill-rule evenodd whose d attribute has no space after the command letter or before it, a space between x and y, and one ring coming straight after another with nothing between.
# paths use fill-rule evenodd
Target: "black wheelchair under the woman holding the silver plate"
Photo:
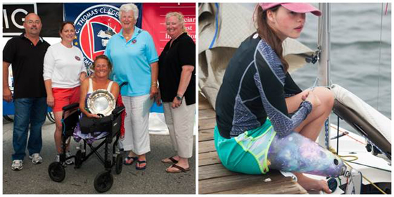
<instances>
[{"instance_id":1,"label":"black wheelchair under the woman holding the silver plate","mask_svg":"<svg viewBox=\"0 0 394 197\"><path fill-rule=\"evenodd\" d=\"M104 165L105 170L96 175L94 179L94 189L96 191L102 193L108 191L113 185L113 174L111 174L112 167L115 166L115 173L120 174L122 172L123 165L123 156L122 153L117 148L117 143L120 138L120 127L122 125L121 113L125 110L124 106L120 106L115 108L110 115L110 130L108 135L104 136L101 139L101 143L98 146L93 146L92 144L88 144L85 139L83 147L80 146L80 150L77 151L75 155L71 155L70 157L66 157L66 146L68 145L68 141L70 141L70 137L74 133L74 129L77 126L77 122L80 121L80 115L82 114L79 110L79 103L72 103L68 106L63 107L63 115L62 115L62 149L63 153L60 155L60 162L53 162L48 167L49 177L54 182L62 182L65 179L65 161L71 158L75 158L75 169L80 168L82 163L84 163L91 155L95 154L101 163ZM65 117L65 113L69 112L70 115ZM115 141L112 147L112 160L110 159L109 151L110 144L113 142L113 138L115 137ZM87 154L87 145L90 147L90 152ZM104 146L104 157L102 157L98 153L98 149Z\"/></svg>"}]
</instances>

